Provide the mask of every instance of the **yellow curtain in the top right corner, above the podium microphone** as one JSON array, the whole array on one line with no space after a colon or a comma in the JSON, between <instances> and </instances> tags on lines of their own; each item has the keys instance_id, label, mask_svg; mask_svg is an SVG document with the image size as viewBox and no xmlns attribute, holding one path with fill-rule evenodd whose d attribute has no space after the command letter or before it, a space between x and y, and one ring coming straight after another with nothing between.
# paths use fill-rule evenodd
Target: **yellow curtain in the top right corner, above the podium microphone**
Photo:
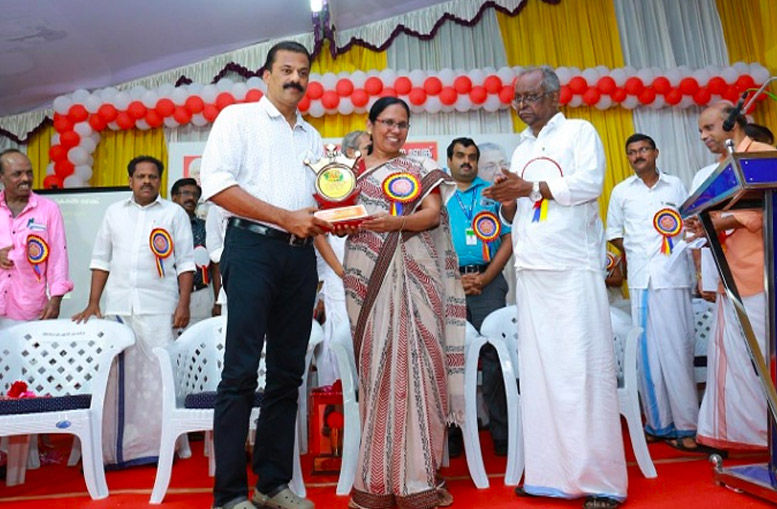
<instances>
[{"instance_id":1,"label":"yellow curtain in the top right corner, above the podium microphone","mask_svg":"<svg viewBox=\"0 0 777 509\"><path fill-rule=\"evenodd\" d=\"M717 0L728 58L734 62L760 62L777 73L777 3L774 0ZM774 84L767 90L777 91ZM777 133L777 104L762 102L753 112L756 123Z\"/></svg>"}]
</instances>

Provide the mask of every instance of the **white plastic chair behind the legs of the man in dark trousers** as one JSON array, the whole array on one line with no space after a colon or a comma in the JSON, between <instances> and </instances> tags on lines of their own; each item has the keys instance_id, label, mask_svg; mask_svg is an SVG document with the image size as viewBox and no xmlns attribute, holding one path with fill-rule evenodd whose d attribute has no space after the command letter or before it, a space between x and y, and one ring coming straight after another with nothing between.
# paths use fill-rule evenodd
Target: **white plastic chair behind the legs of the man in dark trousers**
<instances>
[{"instance_id":1,"label":"white plastic chair behind the legs of the man in dark trousers","mask_svg":"<svg viewBox=\"0 0 777 509\"><path fill-rule=\"evenodd\" d=\"M311 335L321 334L321 327L314 323ZM187 329L175 343L155 348L162 370L162 441L159 449L151 503L159 504L167 493L172 474L175 442L179 436L191 431L205 431L205 450L208 454L208 473L215 473L213 450L213 408L186 408L189 395L215 393L224 366L224 338L226 318L223 316L203 320ZM262 354L264 356L264 354ZM257 376L259 389L264 386L264 360L259 364ZM304 376L307 376L307 368ZM259 409L254 408L250 417L250 429L255 429ZM299 414L297 415L299 418ZM305 496L305 485L299 459L299 437L294 442L293 477L289 487L297 495Z\"/></svg>"}]
</instances>

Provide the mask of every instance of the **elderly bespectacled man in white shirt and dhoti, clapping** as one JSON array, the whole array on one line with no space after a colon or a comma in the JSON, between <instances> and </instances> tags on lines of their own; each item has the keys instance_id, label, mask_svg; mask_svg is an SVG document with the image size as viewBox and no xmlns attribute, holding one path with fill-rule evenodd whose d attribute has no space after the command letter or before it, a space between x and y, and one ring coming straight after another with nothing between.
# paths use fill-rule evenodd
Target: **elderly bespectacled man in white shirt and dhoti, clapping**
<instances>
[{"instance_id":1,"label":"elderly bespectacled man in white shirt and dhoti, clapping","mask_svg":"<svg viewBox=\"0 0 777 509\"><path fill-rule=\"evenodd\" d=\"M483 194L513 221L526 474L519 495L626 497L597 199L604 150L594 127L558 110L558 77L524 69L513 107L528 128L510 171Z\"/></svg>"}]
</instances>

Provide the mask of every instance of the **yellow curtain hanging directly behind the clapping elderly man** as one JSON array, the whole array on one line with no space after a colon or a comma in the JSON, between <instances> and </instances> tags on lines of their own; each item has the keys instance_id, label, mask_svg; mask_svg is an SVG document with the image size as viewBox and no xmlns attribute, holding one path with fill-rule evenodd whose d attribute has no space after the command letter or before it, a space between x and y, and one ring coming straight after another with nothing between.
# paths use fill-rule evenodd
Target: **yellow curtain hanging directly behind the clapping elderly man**
<instances>
[{"instance_id":1,"label":"yellow curtain hanging directly behind the clapping elderly man","mask_svg":"<svg viewBox=\"0 0 777 509\"><path fill-rule=\"evenodd\" d=\"M509 65L623 67L623 53L612 0L559 5L529 1L517 16L497 13ZM623 143L634 133L632 113L623 108L563 108L564 115L591 122L602 137L607 174L599 208L604 218L612 188L631 175ZM525 125L513 115L515 130Z\"/></svg>"}]
</instances>

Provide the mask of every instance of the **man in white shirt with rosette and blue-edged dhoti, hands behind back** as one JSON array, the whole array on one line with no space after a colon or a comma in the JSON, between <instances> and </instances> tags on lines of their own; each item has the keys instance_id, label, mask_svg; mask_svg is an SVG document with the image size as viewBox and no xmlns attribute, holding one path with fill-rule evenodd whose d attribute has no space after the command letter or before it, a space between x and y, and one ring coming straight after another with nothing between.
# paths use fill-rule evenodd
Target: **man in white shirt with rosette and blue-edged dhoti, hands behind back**
<instances>
[{"instance_id":1,"label":"man in white shirt with rosette and blue-edged dhoti, hands behind back","mask_svg":"<svg viewBox=\"0 0 777 509\"><path fill-rule=\"evenodd\" d=\"M615 186L607 210L607 240L626 253L632 322L642 327L639 394L649 438L699 451L694 441L699 400L693 378L692 271L677 208L688 193L679 178L656 167L656 143L644 134L626 140L635 175ZM705 451L706 452L706 451Z\"/></svg>"}]
</instances>

